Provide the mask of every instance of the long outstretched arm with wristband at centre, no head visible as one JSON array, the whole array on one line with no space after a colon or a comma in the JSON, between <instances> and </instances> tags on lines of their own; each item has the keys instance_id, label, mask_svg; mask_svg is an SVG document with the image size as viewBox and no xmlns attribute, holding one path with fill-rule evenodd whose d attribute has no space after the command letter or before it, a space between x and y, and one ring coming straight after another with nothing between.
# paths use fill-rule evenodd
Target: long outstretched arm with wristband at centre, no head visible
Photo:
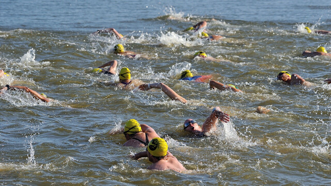
<instances>
[{"instance_id":1,"label":"long outstretched arm with wristband at centre, no head visible","mask_svg":"<svg viewBox=\"0 0 331 186\"><path fill-rule=\"evenodd\" d=\"M153 84L142 84L138 87L140 90L149 90L151 88L159 88L161 89L169 98L172 100L180 101L182 103L186 103L187 100L180 95L178 95L175 91L173 91L170 87L168 87L164 83L153 83Z\"/></svg>"}]
</instances>

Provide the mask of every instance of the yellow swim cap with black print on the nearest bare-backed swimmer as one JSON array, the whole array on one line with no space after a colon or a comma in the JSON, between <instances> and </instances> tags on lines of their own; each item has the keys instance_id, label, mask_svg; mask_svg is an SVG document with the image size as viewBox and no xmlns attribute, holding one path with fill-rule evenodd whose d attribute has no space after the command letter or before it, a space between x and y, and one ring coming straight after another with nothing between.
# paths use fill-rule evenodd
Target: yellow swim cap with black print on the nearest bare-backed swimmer
<instances>
[{"instance_id":1,"label":"yellow swim cap with black print on the nearest bare-backed swimmer","mask_svg":"<svg viewBox=\"0 0 331 186\"><path fill-rule=\"evenodd\" d=\"M153 138L147 145L147 150L151 155L163 157L167 155L168 145L162 138Z\"/></svg>"}]
</instances>

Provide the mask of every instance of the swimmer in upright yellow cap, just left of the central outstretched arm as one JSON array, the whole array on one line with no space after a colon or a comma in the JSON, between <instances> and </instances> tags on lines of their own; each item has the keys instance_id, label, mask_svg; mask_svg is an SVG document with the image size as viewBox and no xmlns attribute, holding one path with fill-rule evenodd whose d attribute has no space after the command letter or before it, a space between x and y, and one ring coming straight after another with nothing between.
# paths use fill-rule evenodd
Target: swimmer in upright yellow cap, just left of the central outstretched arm
<instances>
[{"instance_id":1,"label":"swimmer in upright yellow cap, just left of the central outstretched arm","mask_svg":"<svg viewBox=\"0 0 331 186\"><path fill-rule=\"evenodd\" d=\"M123 90L133 90L135 87L143 84L144 82L139 79L131 80L131 71L128 68L122 68L119 71L119 83L106 83L106 85L117 86Z\"/></svg>"}]
</instances>

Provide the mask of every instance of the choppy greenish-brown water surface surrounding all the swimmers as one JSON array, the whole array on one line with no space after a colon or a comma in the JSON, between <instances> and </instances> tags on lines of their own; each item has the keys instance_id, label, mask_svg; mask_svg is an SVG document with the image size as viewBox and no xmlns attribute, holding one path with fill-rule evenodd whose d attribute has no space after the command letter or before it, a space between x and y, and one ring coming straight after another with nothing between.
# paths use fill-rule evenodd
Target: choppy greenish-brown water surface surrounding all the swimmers
<instances>
[{"instance_id":1,"label":"choppy greenish-brown water surface surrounding all the swimmers","mask_svg":"<svg viewBox=\"0 0 331 186\"><path fill-rule=\"evenodd\" d=\"M301 56L318 46L331 51L331 34L304 29L331 30L330 2L118 3L0 3L0 69L10 74L0 86L25 85L54 100L1 95L1 185L331 184L331 85L323 84L331 78L331 58ZM210 42L182 32L202 20L209 34L225 38ZM90 34L107 27L126 39ZM113 54L118 43L148 59ZM199 50L231 62L193 59ZM160 90L123 91L101 83L118 81L117 75L92 73L110 60L118 61L117 73L128 67L134 79L164 82L188 104ZM186 69L213 74L244 93L179 81ZM280 70L312 85L277 81ZM232 118L215 136L190 138L182 131L185 119L202 124L214 106ZM254 113L258 106L271 112ZM188 170L147 170L147 159L131 160L144 149L123 147L122 134L108 135L131 118L153 127Z\"/></svg>"}]
</instances>

